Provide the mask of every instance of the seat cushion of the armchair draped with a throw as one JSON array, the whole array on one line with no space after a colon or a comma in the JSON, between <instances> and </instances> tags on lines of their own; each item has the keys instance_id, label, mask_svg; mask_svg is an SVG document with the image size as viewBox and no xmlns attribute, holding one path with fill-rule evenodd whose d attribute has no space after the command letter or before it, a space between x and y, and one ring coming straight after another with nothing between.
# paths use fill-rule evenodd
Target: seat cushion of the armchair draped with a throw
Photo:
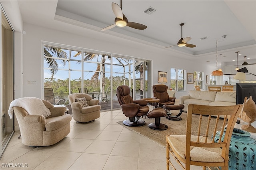
<instances>
[{"instance_id":1,"label":"seat cushion of the armchair draped with a throw","mask_svg":"<svg viewBox=\"0 0 256 170\"><path fill-rule=\"evenodd\" d=\"M62 116L51 117L49 119L46 119L46 124L45 124L46 131L52 131L60 127L63 127L64 125L70 123L71 119L72 119L71 115L62 115Z\"/></svg>"}]
</instances>

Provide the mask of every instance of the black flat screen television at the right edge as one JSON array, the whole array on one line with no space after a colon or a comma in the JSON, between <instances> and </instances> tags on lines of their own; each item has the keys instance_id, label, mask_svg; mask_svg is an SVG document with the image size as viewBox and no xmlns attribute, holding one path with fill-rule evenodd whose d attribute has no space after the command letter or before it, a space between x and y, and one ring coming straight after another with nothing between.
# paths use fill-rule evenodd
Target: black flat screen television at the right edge
<instances>
[{"instance_id":1,"label":"black flat screen television at the right edge","mask_svg":"<svg viewBox=\"0 0 256 170\"><path fill-rule=\"evenodd\" d=\"M256 83L236 83L236 104L243 104L246 96L256 103Z\"/></svg>"}]
</instances>

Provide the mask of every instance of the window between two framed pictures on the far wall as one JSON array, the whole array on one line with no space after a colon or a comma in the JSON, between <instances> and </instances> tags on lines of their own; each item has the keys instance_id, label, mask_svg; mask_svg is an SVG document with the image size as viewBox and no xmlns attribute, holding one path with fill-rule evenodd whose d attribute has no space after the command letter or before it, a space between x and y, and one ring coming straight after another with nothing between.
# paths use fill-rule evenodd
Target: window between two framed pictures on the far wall
<instances>
[{"instance_id":1,"label":"window between two framed pictures on the far wall","mask_svg":"<svg viewBox=\"0 0 256 170\"><path fill-rule=\"evenodd\" d=\"M171 85L169 85L172 90L176 91L184 91L185 87L185 79L184 79L185 71L183 69L171 68Z\"/></svg>"}]
</instances>

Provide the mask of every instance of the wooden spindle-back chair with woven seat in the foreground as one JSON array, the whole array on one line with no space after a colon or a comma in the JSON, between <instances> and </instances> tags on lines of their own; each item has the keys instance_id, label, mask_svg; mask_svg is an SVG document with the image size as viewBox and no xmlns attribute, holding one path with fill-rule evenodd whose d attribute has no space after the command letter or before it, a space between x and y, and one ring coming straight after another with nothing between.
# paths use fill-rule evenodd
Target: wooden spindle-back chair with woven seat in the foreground
<instances>
[{"instance_id":1,"label":"wooden spindle-back chair with woven seat in the foreground","mask_svg":"<svg viewBox=\"0 0 256 170\"><path fill-rule=\"evenodd\" d=\"M167 170L169 170L170 165L176 170L170 161L170 155L184 170L190 170L190 165L202 166L203 170L206 170L206 167L216 167L217 169L221 167L222 170L228 170L230 140L236 119L242 113L243 107L244 105L206 106L189 104L186 135L166 135ZM212 117L212 115L216 117ZM224 119L220 119L220 116L224 116ZM206 126L202 126L202 118L207 121ZM226 128L225 133L224 128ZM220 131L220 138L223 136L223 141L214 140L217 130Z\"/></svg>"}]
</instances>

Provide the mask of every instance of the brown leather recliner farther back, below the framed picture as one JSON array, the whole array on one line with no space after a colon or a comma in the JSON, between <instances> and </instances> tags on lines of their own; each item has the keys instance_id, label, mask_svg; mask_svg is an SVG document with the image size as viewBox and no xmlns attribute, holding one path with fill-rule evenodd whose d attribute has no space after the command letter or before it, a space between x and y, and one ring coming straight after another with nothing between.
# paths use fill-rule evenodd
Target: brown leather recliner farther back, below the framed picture
<instances>
[{"instance_id":1,"label":"brown leather recliner farther back, below the framed picture","mask_svg":"<svg viewBox=\"0 0 256 170\"><path fill-rule=\"evenodd\" d=\"M169 97L167 89L167 85L153 85L153 96L160 99L159 107L175 104L176 97Z\"/></svg>"}]
</instances>

